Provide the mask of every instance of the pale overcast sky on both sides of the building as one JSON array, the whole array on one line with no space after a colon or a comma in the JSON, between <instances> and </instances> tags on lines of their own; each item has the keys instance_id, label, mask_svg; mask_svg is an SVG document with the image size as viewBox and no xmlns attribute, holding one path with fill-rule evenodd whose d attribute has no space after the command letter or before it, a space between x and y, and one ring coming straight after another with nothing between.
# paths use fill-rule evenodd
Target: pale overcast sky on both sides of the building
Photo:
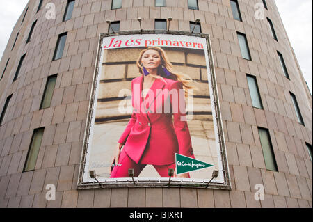
<instances>
[{"instance_id":1,"label":"pale overcast sky on both sides of the building","mask_svg":"<svg viewBox=\"0 0 313 222\"><path fill-rule=\"evenodd\" d=\"M34 0L33 0L34 1ZM312 0L275 0L305 81L312 93ZM1 0L0 58L28 0Z\"/></svg>"}]
</instances>

